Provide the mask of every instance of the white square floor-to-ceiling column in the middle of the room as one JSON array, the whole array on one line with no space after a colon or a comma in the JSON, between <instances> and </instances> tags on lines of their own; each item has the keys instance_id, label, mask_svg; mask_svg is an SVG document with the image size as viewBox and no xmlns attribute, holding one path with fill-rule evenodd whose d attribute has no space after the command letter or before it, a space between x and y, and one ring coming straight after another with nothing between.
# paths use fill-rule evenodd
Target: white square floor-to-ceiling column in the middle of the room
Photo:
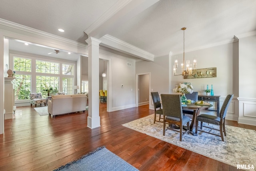
<instances>
[{"instance_id":1,"label":"white square floor-to-ceiling column in the middle of the room","mask_svg":"<svg viewBox=\"0 0 256 171\"><path fill-rule=\"evenodd\" d=\"M88 117L87 127L100 127L99 113L99 44L100 40L88 38Z\"/></svg>"}]
</instances>

